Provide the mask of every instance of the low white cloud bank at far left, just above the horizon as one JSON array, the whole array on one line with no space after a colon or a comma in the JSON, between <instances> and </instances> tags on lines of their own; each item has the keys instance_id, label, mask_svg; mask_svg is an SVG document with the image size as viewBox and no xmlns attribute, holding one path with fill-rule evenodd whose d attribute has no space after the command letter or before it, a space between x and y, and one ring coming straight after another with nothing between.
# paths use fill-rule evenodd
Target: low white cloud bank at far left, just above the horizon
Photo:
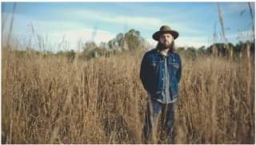
<instances>
[{"instance_id":1,"label":"low white cloud bank at far left, just above the horizon","mask_svg":"<svg viewBox=\"0 0 256 145\"><path fill-rule=\"evenodd\" d=\"M7 19L4 22L6 29L2 32L2 37L6 38L10 26L10 14L3 14L3 16ZM31 24L34 27L35 33L32 33ZM47 36L51 45L58 45L63 37L65 37L65 40L70 43L70 49L77 48L78 40L95 41L95 43L99 44L102 41L110 41L110 39L115 37L114 33L101 29L90 29L90 26L79 22L38 21L20 14L15 14L13 34L23 37L21 40L24 40L25 37L36 37L37 34L45 39ZM34 43L36 43L35 41Z\"/></svg>"}]
</instances>

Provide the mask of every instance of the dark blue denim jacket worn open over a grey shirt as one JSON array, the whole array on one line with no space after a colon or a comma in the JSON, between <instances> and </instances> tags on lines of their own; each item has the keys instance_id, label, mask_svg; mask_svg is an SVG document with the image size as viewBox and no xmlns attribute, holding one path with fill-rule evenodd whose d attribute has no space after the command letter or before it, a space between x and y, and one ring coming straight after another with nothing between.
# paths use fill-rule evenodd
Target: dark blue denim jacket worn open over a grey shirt
<instances>
[{"instance_id":1,"label":"dark blue denim jacket worn open over a grey shirt","mask_svg":"<svg viewBox=\"0 0 256 145\"><path fill-rule=\"evenodd\" d=\"M182 76L182 60L178 53L169 52L166 56L170 76L170 92L174 99L178 98L178 83ZM164 88L164 58L158 49L152 49L142 58L140 79L143 87L150 93L152 99L162 99Z\"/></svg>"}]
</instances>

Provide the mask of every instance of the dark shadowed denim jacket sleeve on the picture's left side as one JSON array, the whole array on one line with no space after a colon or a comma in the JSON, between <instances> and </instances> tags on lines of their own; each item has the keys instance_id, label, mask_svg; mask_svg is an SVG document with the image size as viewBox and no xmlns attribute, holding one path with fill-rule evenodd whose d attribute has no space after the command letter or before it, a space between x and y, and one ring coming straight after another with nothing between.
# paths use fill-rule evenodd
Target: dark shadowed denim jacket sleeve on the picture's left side
<instances>
[{"instance_id":1,"label":"dark shadowed denim jacket sleeve on the picture's left side","mask_svg":"<svg viewBox=\"0 0 256 145\"><path fill-rule=\"evenodd\" d=\"M147 55L145 54L142 58L142 64L141 64L141 70L140 70L140 79L142 80L143 87L146 89L146 91L150 91L149 84L148 84L148 61L147 61Z\"/></svg>"}]
</instances>

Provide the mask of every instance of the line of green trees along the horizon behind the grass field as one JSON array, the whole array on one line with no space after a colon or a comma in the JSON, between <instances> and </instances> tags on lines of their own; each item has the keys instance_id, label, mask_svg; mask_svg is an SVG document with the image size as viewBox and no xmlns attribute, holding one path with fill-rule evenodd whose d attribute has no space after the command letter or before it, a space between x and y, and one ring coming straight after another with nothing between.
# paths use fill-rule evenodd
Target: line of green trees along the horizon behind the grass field
<instances>
[{"instance_id":1,"label":"line of green trees along the horizon behind the grass field","mask_svg":"<svg viewBox=\"0 0 256 145\"><path fill-rule=\"evenodd\" d=\"M248 48L248 45L249 48ZM102 42L97 45L94 41L87 41L82 44L82 52L75 52L74 49L67 51L58 51L57 53L52 53L50 51L39 52L34 49L29 49L30 53L41 54L43 57L47 56L57 56L57 57L67 57L68 60L74 61L75 57L82 60L88 60L95 57L110 57L112 55L118 55L118 53L132 52L136 53L138 51L146 51L148 49L153 49L154 46L150 45L141 36L138 30L130 29L127 33L118 33L116 37L108 42ZM249 49L249 50L248 50ZM22 55L26 51L15 50ZM228 43L214 43L208 47L201 46L200 48L190 47L176 47L176 51L181 53L184 57L194 59L196 57L203 57L214 55L215 57L232 57L238 58L246 55L248 51L254 55L254 42L251 41L239 41L237 44ZM247 52L246 52L247 51Z\"/></svg>"}]
</instances>

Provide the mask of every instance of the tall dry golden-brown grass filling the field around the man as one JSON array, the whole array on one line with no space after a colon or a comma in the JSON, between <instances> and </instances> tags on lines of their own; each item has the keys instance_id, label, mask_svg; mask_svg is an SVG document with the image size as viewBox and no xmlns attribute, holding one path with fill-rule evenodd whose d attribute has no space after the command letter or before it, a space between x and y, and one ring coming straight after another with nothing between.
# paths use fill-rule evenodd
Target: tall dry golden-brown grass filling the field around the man
<instances>
[{"instance_id":1,"label":"tall dry golden-brown grass filling the field around the man","mask_svg":"<svg viewBox=\"0 0 256 145\"><path fill-rule=\"evenodd\" d=\"M142 55L70 62L2 49L2 143L143 143ZM182 56L174 143L254 143L250 61Z\"/></svg>"}]
</instances>

